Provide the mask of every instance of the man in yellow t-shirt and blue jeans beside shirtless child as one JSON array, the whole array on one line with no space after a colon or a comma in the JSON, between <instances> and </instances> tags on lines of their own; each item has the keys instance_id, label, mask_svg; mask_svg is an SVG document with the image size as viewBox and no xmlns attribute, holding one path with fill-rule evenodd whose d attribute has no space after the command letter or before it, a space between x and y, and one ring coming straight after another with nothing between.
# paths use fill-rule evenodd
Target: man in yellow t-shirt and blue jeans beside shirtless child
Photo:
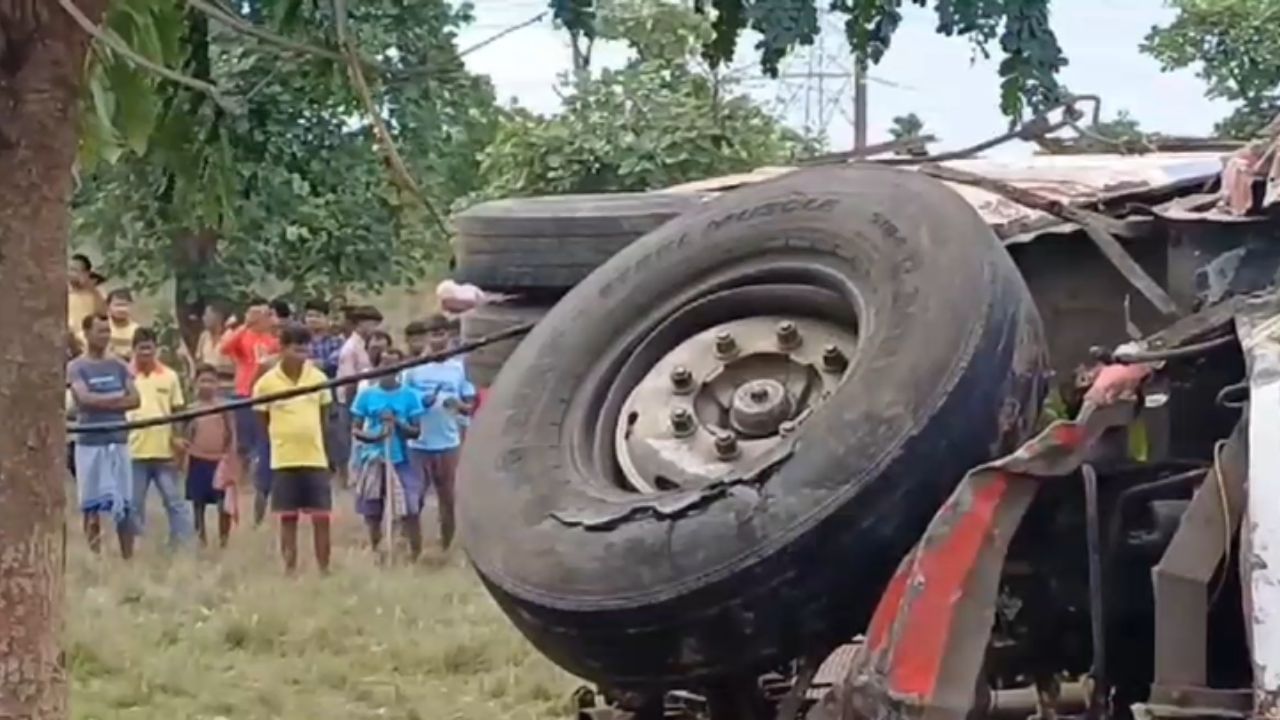
<instances>
[{"instance_id":1,"label":"man in yellow t-shirt and blue jeans beside shirtless child","mask_svg":"<svg viewBox=\"0 0 1280 720\"><path fill-rule=\"evenodd\" d=\"M156 334L151 328L133 333L133 384L141 404L129 411L129 420L164 418L186 404L178 373L156 359ZM133 532L146 527L147 492L154 484L169 518L169 543L178 546L192 536L191 507L178 489L178 462L174 454L173 425L163 424L129 430L129 459L133 468L133 505L129 519Z\"/></svg>"}]
</instances>

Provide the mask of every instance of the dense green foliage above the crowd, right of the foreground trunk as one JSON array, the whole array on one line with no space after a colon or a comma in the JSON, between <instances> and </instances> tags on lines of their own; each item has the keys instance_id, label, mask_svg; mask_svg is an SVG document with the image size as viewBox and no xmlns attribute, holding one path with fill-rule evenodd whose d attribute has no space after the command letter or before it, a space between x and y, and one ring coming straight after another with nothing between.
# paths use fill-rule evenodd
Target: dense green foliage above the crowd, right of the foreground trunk
<instances>
[{"instance_id":1,"label":"dense green foliage above the crowd, right of the foreground trunk","mask_svg":"<svg viewBox=\"0 0 1280 720\"><path fill-rule=\"evenodd\" d=\"M76 238L100 247L114 277L154 290L177 273L186 302L262 281L297 293L378 291L443 259L447 242L428 209L389 179L334 56L328 4L236 5L241 20L320 50L307 54L183 8L123 0L108 24L142 51L150 41L140 41L138 18L150 18L155 45L172 49L152 59L214 85L233 111L109 53L90 68ZM497 108L488 81L457 55L467 8L352 3L348 20L375 104L424 195L444 208L471 192Z\"/></svg>"}]
</instances>

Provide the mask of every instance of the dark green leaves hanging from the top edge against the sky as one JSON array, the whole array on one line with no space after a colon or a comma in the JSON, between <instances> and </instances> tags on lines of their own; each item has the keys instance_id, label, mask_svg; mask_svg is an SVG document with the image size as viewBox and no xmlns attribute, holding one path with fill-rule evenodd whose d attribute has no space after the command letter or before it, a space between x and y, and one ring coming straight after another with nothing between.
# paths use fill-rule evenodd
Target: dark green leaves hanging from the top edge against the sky
<instances>
[{"instance_id":1,"label":"dark green leaves hanging from the top edge against the sky","mask_svg":"<svg viewBox=\"0 0 1280 720\"><path fill-rule=\"evenodd\" d=\"M552 6L568 4L553 0ZM829 8L845 15L845 35L855 54L878 63L902 22L904 0L694 0L699 13L712 15L712 38L705 58L713 64L733 58L745 28L760 35L755 50L767 74L776 76L778 63L799 46L812 45L819 31L818 12ZM909 0L925 6L929 0ZM1053 105L1061 97L1057 72L1066 58L1048 24L1050 0L932 0L937 31L963 36L988 53L998 42L1000 108L1011 122ZM572 5L593 5L573 0ZM581 31L590 14L557 15L572 31Z\"/></svg>"}]
</instances>

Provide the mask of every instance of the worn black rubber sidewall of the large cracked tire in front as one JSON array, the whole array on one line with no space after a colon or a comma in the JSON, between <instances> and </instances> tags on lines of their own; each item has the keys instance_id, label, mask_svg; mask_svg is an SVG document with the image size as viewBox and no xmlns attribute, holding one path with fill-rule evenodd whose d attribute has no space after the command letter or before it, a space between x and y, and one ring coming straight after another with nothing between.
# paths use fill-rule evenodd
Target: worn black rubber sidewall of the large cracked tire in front
<instances>
[{"instance_id":1,"label":"worn black rubber sidewall of the large cracked tire in front","mask_svg":"<svg viewBox=\"0 0 1280 720\"><path fill-rule=\"evenodd\" d=\"M602 493L564 433L579 389L608 375L599 359L625 351L620 309L678 305L681 288L771 254L823 256L863 288L849 380L763 483L672 516L653 497ZM602 610L660 603L782 551L858 496L942 401L984 331L1001 261L1011 268L966 202L897 170L788 176L668 223L570 292L508 359L463 457L468 556L513 596ZM623 520L593 532L556 518L566 510ZM499 539L512 533L518 542Z\"/></svg>"}]
</instances>

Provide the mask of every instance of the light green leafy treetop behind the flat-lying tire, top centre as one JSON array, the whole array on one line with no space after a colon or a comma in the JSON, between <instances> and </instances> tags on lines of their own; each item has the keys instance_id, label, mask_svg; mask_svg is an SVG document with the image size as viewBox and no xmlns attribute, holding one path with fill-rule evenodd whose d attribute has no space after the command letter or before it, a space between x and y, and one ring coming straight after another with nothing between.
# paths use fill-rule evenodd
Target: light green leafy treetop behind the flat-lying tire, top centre
<instances>
[{"instance_id":1,"label":"light green leafy treetop behind the flat-lying tire, top centre","mask_svg":"<svg viewBox=\"0 0 1280 720\"><path fill-rule=\"evenodd\" d=\"M636 58L564 86L550 118L509 113L481 158L477 199L641 191L792 159L813 143L733 86L694 69L709 22L675 3L617 0L600 37Z\"/></svg>"}]
</instances>

